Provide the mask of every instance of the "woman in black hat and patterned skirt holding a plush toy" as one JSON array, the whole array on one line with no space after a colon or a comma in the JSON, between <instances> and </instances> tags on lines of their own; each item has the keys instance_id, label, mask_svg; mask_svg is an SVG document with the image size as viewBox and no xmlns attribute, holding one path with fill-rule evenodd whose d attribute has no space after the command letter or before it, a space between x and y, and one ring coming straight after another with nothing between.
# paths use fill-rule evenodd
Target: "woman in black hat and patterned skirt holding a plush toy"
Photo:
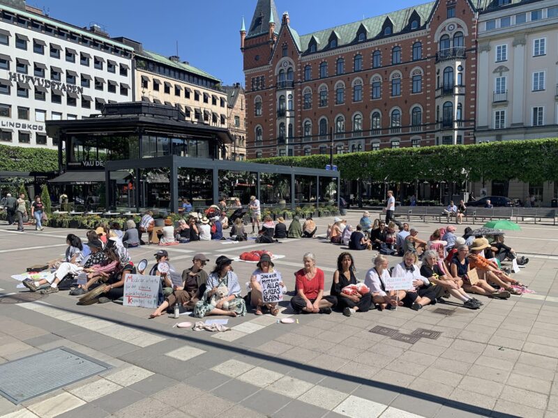
<instances>
[{"instance_id":1,"label":"woman in black hat and patterned skirt holding a plush toy","mask_svg":"<svg viewBox=\"0 0 558 418\"><path fill-rule=\"evenodd\" d=\"M220 286L227 287L227 295L218 300L217 304L211 304L211 296L218 292ZM225 304L227 302L227 304ZM232 271L232 260L227 256L219 256L215 262L215 268L209 274L206 290L202 299L195 304L194 316L203 318L208 315L245 316L246 302L241 296L239 278Z\"/></svg>"}]
</instances>

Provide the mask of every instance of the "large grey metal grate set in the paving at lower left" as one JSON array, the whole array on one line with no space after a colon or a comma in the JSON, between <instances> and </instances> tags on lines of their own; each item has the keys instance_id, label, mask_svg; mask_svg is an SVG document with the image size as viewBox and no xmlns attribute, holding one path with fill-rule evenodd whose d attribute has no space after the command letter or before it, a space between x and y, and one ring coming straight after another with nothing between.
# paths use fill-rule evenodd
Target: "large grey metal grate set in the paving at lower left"
<instances>
[{"instance_id":1,"label":"large grey metal grate set in the paving at lower left","mask_svg":"<svg viewBox=\"0 0 558 418\"><path fill-rule=\"evenodd\" d=\"M17 405L110 368L69 348L54 348L0 364L0 394Z\"/></svg>"}]
</instances>

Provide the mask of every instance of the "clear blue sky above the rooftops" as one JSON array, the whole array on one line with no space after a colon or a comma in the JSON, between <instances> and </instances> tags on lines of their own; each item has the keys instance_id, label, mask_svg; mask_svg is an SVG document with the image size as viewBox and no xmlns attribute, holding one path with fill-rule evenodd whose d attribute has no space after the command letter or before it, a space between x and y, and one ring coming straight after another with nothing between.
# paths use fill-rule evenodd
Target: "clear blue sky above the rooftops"
<instances>
[{"instance_id":1,"label":"clear blue sky above the rooftops","mask_svg":"<svg viewBox=\"0 0 558 418\"><path fill-rule=\"evenodd\" d=\"M389 13L428 0L276 0L279 16L288 11L291 25L301 35L338 24ZM225 84L241 82L241 19L246 27L257 0L28 0L51 17L89 26L96 22L110 36L126 36L144 48L202 68Z\"/></svg>"}]
</instances>

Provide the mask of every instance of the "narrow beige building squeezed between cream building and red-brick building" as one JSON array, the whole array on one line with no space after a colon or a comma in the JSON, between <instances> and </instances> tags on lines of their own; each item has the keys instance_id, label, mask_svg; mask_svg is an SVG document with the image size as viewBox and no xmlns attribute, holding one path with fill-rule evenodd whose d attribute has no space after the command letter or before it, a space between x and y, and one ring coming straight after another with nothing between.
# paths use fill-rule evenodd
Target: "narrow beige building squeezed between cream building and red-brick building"
<instances>
[{"instance_id":1,"label":"narrow beige building squeezed between cream building and red-brick building","mask_svg":"<svg viewBox=\"0 0 558 418\"><path fill-rule=\"evenodd\" d=\"M224 86L227 92L229 131L233 142L227 146L227 157L230 160L246 160L246 98L240 83Z\"/></svg>"}]
</instances>

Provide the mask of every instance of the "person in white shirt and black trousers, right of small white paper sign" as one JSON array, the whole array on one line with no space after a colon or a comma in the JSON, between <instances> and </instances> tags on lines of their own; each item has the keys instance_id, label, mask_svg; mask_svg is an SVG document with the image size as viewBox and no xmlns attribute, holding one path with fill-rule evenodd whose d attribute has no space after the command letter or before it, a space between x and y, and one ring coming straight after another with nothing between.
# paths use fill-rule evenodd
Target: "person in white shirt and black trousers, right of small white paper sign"
<instances>
[{"instance_id":1,"label":"person in white shirt and black trousers, right of small white paper sign","mask_svg":"<svg viewBox=\"0 0 558 418\"><path fill-rule=\"evenodd\" d=\"M403 255L402 263L395 265L393 272L391 272L393 277L412 277L413 288L407 291L407 295L403 298L403 305L415 311L432 302L434 304L437 302L435 286L430 284L427 277L421 275L421 269L417 263L418 256L416 256L416 253L407 251Z\"/></svg>"}]
</instances>

